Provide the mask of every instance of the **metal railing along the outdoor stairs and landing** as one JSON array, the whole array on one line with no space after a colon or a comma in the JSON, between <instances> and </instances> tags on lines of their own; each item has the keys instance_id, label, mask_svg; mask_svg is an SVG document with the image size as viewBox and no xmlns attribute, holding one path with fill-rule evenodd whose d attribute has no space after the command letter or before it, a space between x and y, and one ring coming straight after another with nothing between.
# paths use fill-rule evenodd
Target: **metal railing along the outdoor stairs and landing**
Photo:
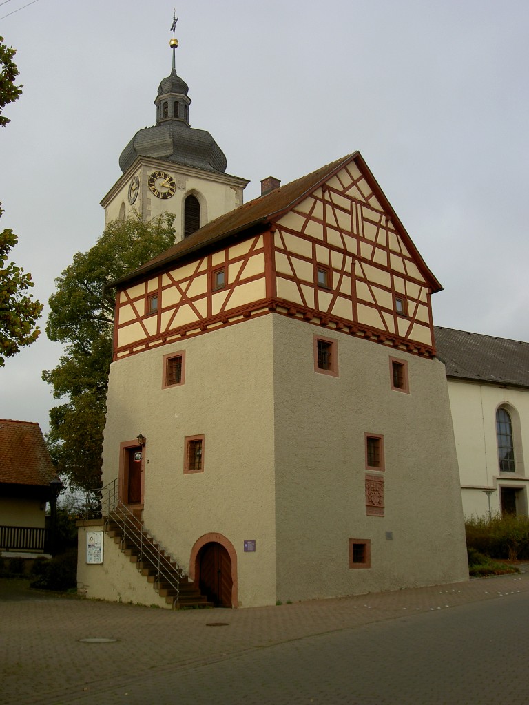
<instances>
[{"instance_id":1,"label":"metal railing along the outdoor stairs and landing","mask_svg":"<svg viewBox=\"0 0 529 705\"><path fill-rule=\"evenodd\" d=\"M173 607L177 606L180 597L180 581L186 577L186 571L178 565L172 563L160 550L155 537L149 534L142 522L135 517L126 504L119 499L118 478L109 482L99 489L86 491L85 519L102 518L104 520L105 532L109 532L113 523L122 533L122 544L132 544L138 549L137 570L142 570L140 564L147 563L156 570L154 577L154 588L159 591L160 584L166 582L171 589L176 591L173 597Z\"/></svg>"}]
</instances>

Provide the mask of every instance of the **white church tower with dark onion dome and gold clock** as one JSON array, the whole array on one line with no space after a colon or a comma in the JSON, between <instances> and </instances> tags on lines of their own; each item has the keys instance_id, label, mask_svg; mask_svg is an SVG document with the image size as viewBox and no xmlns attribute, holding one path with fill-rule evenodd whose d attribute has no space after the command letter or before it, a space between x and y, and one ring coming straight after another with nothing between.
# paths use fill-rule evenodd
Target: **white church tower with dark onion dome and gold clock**
<instances>
[{"instance_id":1,"label":"white church tower with dark onion dome and gold clock","mask_svg":"<svg viewBox=\"0 0 529 705\"><path fill-rule=\"evenodd\" d=\"M173 33L176 20L173 24ZM138 212L149 220L174 214L178 243L209 221L243 203L248 180L226 174L226 157L205 130L190 126L188 85L178 76L175 50L171 73L158 87L156 124L139 130L121 152L123 176L101 201L105 226Z\"/></svg>"}]
</instances>

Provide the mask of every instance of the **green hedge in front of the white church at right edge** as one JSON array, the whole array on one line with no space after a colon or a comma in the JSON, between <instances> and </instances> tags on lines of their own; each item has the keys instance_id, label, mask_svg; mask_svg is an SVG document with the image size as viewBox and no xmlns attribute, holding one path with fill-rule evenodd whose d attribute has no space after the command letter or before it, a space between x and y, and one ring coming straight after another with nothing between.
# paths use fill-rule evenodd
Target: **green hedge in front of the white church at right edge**
<instances>
[{"instance_id":1,"label":"green hedge in front of the white church at right edge","mask_svg":"<svg viewBox=\"0 0 529 705\"><path fill-rule=\"evenodd\" d=\"M529 557L529 517L499 513L465 522L467 547L492 558Z\"/></svg>"}]
</instances>

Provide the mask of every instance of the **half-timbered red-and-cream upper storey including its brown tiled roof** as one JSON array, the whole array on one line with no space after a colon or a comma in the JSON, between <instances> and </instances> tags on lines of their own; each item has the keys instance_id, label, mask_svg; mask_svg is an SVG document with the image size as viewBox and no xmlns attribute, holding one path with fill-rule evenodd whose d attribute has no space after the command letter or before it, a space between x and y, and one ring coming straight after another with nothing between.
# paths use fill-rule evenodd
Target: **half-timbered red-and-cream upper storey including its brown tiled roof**
<instances>
[{"instance_id":1,"label":"half-timbered red-and-cream upper storey including its brown tiled roof","mask_svg":"<svg viewBox=\"0 0 529 705\"><path fill-rule=\"evenodd\" d=\"M358 152L116 283L115 358L275 311L430 356L441 287Z\"/></svg>"}]
</instances>

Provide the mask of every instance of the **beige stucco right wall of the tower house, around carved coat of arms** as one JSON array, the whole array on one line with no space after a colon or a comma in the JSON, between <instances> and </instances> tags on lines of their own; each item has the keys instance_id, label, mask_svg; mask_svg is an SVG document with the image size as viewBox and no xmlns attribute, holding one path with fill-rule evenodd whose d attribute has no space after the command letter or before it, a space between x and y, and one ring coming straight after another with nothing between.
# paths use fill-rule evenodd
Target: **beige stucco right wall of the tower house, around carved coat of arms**
<instances>
[{"instance_id":1,"label":"beige stucco right wall of the tower house, around carved coat of arms","mask_svg":"<svg viewBox=\"0 0 529 705\"><path fill-rule=\"evenodd\" d=\"M313 337L336 339L339 376L315 372ZM461 494L444 367L274 316L277 596L310 599L466 580ZM384 517L365 508L365 433L384 436ZM372 474L372 473L370 473ZM392 539L386 532L391 532ZM349 568L349 539L371 542Z\"/></svg>"}]
</instances>

